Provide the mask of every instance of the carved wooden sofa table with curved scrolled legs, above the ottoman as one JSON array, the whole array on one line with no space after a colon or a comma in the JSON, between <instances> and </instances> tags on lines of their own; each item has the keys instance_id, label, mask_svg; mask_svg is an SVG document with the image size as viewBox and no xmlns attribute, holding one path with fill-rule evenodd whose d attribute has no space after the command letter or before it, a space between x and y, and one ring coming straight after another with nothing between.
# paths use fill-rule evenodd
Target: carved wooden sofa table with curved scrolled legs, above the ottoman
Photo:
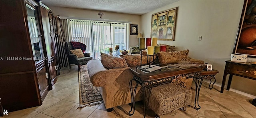
<instances>
[{"instance_id":1,"label":"carved wooden sofa table with curved scrolled legs, above the ottoman","mask_svg":"<svg viewBox=\"0 0 256 118\"><path fill-rule=\"evenodd\" d=\"M199 110L201 106L199 106L198 98L199 98L199 92L202 85L203 78L200 76L201 71L204 69L204 66L200 67L194 67L194 68L188 68L184 70L168 70L168 69L162 69L157 70L154 72L145 73L144 71L138 69L138 67L131 67L130 70L132 74L134 74L134 77L132 80L130 80L130 92L132 96L132 106L131 110L129 111L129 116L132 116L135 111L135 95L136 95L136 88L138 84L142 85L144 94L146 93L146 90L149 94L151 94L152 87L157 87L162 84L167 84L172 82L176 76L186 76L186 78L193 78L195 84L196 84L196 98L194 102L194 106L191 106L192 108L195 108L196 110ZM136 86L133 89L132 88L132 81L136 82ZM145 96L144 96L145 98ZM144 118L146 117L146 111L148 108L148 103L144 100ZM132 112L133 110L133 112Z\"/></svg>"}]
</instances>

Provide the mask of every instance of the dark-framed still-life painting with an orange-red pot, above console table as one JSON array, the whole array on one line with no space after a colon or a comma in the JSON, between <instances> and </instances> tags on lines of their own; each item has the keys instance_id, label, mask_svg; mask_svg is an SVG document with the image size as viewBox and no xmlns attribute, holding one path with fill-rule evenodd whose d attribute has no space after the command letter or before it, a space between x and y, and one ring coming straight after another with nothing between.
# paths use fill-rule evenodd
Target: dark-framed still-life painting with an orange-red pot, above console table
<instances>
[{"instance_id":1,"label":"dark-framed still-life painting with an orange-red pot, above console table","mask_svg":"<svg viewBox=\"0 0 256 118\"><path fill-rule=\"evenodd\" d=\"M244 0L233 54L256 57L256 0Z\"/></svg>"}]
</instances>

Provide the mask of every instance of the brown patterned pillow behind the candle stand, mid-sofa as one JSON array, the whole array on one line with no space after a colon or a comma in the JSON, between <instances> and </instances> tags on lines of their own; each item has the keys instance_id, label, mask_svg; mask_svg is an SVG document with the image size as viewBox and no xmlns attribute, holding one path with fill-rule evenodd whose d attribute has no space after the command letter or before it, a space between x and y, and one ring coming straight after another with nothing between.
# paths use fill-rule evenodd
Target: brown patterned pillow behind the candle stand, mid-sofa
<instances>
[{"instance_id":1,"label":"brown patterned pillow behind the candle stand, mid-sofa","mask_svg":"<svg viewBox=\"0 0 256 118\"><path fill-rule=\"evenodd\" d=\"M129 67L132 66L139 66L140 65L140 55L120 55L121 58L124 58L126 60L126 63ZM147 59L148 58L148 59ZM147 60L150 59L150 62L153 61L153 56L142 56L141 64L147 64ZM156 56L154 56L154 59L156 59Z\"/></svg>"}]
</instances>

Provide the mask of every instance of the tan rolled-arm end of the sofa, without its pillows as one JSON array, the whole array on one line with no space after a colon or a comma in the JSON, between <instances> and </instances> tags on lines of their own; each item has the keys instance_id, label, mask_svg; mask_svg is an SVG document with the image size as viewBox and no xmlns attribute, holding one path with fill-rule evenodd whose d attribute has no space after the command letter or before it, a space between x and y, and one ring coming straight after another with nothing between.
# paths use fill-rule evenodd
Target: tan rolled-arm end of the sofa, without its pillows
<instances>
[{"instance_id":1,"label":"tan rolled-arm end of the sofa, without its pillows","mask_svg":"<svg viewBox=\"0 0 256 118\"><path fill-rule=\"evenodd\" d=\"M88 74L93 86L98 86L108 111L113 107L131 103L129 82L133 78L130 67L107 69L100 60L90 60L87 63ZM133 81L133 85L136 83ZM136 90L136 101L140 98L139 85Z\"/></svg>"}]
</instances>

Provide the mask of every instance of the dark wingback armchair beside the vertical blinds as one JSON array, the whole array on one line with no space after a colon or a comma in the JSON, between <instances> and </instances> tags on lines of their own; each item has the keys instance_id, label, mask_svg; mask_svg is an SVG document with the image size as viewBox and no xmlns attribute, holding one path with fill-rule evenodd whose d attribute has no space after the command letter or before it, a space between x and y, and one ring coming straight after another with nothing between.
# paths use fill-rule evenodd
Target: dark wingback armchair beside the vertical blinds
<instances>
[{"instance_id":1,"label":"dark wingback armchair beside the vertical blinds","mask_svg":"<svg viewBox=\"0 0 256 118\"><path fill-rule=\"evenodd\" d=\"M80 66L87 64L89 60L92 60L92 57L90 57L90 53L86 53L86 45L80 42L74 42L76 44L76 48L73 47L71 42L67 42L67 54L68 54L68 63L69 68L71 68L70 64L75 64L78 66L78 71L80 71ZM70 50L78 49L77 47L82 47L81 50L83 50L84 57L78 58L76 55L72 54Z\"/></svg>"}]
</instances>

